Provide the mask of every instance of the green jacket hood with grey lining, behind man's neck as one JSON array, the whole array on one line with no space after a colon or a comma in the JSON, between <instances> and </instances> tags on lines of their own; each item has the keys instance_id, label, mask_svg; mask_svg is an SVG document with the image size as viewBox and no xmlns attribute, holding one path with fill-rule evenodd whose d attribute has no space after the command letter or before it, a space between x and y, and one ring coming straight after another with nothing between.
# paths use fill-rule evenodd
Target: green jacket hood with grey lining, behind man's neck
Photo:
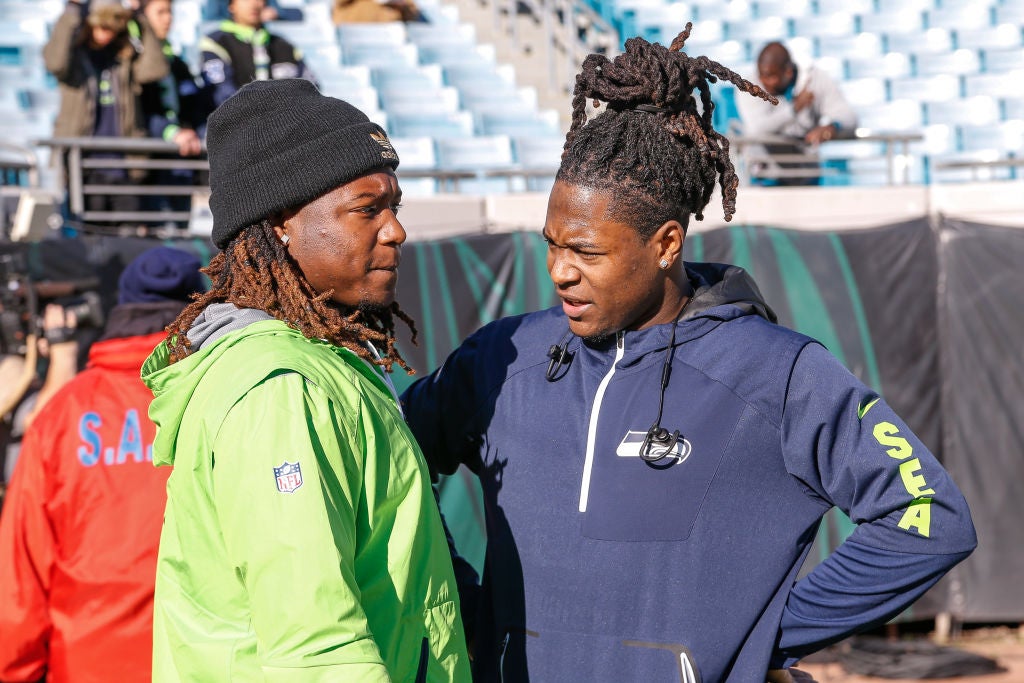
<instances>
[{"instance_id":1,"label":"green jacket hood with grey lining, behind man's neck","mask_svg":"<svg viewBox=\"0 0 1024 683\"><path fill-rule=\"evenodd\" d=\"M196 324L188 331L188 339L196 350L171 365L167 344L160 344L154 349L142 365L142 382L154 395L150 419L158 427L153 444L155 465L174 464L175 443L185 408L211 366L236 344L264 334L302 337L301 333L263 311L240 309L232 304L213 304L196 318Z\"/></svg>"}]
</instances>

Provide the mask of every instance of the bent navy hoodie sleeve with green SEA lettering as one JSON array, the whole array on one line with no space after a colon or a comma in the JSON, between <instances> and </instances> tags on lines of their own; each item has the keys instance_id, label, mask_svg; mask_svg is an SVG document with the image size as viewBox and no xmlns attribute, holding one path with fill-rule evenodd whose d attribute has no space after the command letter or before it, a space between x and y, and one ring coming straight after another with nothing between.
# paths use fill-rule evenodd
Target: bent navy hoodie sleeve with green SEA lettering
<instances>
[{"instance_id":1,"label":"bent navy hoodie sleeve with green SEA lettering","mask_svg":"<svg viewBox=\"0 0 1024 683\"><path fill-rule=\"evenodd\" d=\"M877 393L809 344L782 415L786 469L857 524L793 587L774 667L889 621L977 545L959 489Z\"/></svg>"}]
</instances>

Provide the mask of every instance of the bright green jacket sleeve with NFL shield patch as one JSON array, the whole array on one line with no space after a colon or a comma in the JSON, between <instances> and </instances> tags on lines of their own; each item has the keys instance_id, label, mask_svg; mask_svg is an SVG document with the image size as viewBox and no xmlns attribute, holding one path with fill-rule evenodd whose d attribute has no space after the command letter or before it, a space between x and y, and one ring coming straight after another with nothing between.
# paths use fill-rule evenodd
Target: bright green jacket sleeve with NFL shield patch
<instances>
[{"instance_id":1,"label":"bright green jacket sleeve with NFL shield patch","mask_svg":"<svg viewBox=\"0 0 1024 683\"><path fill-rule=\"evenodd\" d=\"M355 580L365 458L348 419L287 374L251 389L214 443L214 503L267 681L390 681Z\"/></svg>"}]
</instances>

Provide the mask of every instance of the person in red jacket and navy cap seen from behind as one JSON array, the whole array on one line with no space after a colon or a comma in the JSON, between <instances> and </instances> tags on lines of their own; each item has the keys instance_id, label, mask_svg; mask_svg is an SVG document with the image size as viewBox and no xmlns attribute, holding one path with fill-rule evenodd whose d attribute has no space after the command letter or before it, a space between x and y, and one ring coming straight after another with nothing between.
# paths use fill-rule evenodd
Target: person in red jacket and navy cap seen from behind
<instances>
[{"instance_id":1,"label":"person in red jacket and navy cap seen from behind","mask_svg":"<svg viewBox=\"0 0 1024 683\"><path fill-rule=\"evenodd\" d=\"M193 292L199 259L158 247L119 280L87 368L29 427L0 515L0 681L148 681L169 468L153 466L142 361Z\"/></svg>"}]
</instances>

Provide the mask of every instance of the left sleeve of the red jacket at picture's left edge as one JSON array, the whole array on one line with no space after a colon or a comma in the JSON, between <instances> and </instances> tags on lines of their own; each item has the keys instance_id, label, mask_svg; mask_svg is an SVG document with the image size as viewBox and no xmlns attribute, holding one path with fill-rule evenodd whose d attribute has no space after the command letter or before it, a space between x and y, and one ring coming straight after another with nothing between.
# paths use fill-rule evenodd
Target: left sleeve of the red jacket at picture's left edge
<instances>
[{"instance_id":1,"label":"left sleeve of the red jacket at picture's left edge","mask_svg":"<svg viewBox=\"0 0 1024 683\"><path fill-rule=\"evenodd\" d=\"M49 661L56 539L46 512L50 477L43 456L52 431L44 418L26 432L0 515L0 681L39 680Z\"/></svg>"}]
</instances>

